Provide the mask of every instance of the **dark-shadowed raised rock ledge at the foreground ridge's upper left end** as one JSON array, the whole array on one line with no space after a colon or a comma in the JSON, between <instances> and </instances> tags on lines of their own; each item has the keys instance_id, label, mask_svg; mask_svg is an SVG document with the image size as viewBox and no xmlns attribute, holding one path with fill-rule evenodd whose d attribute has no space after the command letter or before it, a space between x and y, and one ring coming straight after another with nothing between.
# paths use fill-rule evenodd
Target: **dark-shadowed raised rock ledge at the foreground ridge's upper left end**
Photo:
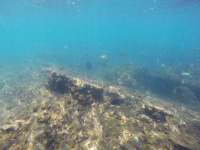
<instances>
[{"instance_id":1,"label":"dark-shadowed raised rock ledge at the foreground ridge's upper left end","mask_svg":"<svg viewBox=\"0 0 200 150\"><path fill-rule=\"evenodd\" d=\"M95 101L103 101L104 89L102 87L68 77L54 70L47 70L47 72L49 75L47 88L51 91L61 94L71 93L73 99L78 100L82 105L92 104ZM85 84L85 87L78 89L82 83Z\"/></svg>"}]
</instances>

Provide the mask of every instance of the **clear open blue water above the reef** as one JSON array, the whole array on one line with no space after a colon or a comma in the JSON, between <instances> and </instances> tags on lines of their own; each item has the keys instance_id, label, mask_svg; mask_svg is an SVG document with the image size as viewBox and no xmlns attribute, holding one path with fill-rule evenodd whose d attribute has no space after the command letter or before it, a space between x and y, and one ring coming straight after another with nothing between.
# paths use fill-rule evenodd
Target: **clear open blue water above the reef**
<instances>
[{"instance_id":1,"label":"clear open blue water above the reef","mask_svg":"<svg viewBox=\"0 0 200 150\"><path fill-rule=\"evenodd\" d=\"M84 68L106 55L110 68L132 62L155 69L157 59L160 64L200 59L200 51L193 52L200 47L200 2L1 0L0 35L4 59L34 57Z\"/></svg>"}]
</instances>

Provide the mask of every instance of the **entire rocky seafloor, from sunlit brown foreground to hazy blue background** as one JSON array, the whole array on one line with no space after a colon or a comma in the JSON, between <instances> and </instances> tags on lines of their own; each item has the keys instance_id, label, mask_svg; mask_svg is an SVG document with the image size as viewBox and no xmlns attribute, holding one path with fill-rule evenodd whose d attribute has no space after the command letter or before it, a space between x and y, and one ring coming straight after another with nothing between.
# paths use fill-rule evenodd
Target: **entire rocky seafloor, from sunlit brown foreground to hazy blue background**
<instances>
[{"instance_id":1,"label":"entire rocky seafloor, from sunlit brown foreground to hazy blue background","mask_svg":"<svg viewBox=\"0 0 200 150\"><path fill-rule=\"evenodd\" d=\"M100 80L40 60L12 63L0 67L1 150L200 149L198 85L189 79L183 86L175 75L133 64L104 71ZM166 92L158 86L161 95L155 88L144 98L148 78L154 88L155 78L165 80Z\"/></svg>"}]
</instances>

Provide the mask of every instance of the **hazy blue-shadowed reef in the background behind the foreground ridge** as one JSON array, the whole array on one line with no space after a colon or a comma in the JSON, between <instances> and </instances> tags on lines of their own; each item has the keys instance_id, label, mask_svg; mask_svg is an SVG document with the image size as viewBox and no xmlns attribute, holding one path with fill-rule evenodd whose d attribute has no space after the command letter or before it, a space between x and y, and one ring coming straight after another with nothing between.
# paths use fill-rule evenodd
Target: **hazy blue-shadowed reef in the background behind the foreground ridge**
<instances>
[{"instance_id":1,"label":"hazy blue-shadowed reef in the background behind the foreground ridge","mask_svg":"<svg viewBox=\"0 0 200 150\"><path fill-rule=\"evenodd\" d=\"M200 109L200 64L170 63L164 66L151 72L146 67L127 63L106 72L104 78L113 85L132 88L132 91L150 89L154 94ZM189 72L191 76L184 77L183 72Z\"/></svg>"}]
</instances>

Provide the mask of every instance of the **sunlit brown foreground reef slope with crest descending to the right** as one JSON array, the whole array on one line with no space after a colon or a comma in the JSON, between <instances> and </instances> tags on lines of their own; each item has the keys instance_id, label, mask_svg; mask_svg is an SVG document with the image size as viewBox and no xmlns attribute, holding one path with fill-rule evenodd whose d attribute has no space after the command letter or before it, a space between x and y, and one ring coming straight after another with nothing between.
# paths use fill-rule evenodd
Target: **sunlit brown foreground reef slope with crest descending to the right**
<instances>
[{"instance_id":1,"label":"sunlit brown foreground reef slope with crest descending to the right","mask_svg":"<svg viewBox=\"0 0 200 150\"><path fill-rule=\"evenodd\" d=\"M2 116L1 149L200 149L199 112L53 69L47 75L45 86L20 94L21 111Z\"/></svg>"}]
</instances>

